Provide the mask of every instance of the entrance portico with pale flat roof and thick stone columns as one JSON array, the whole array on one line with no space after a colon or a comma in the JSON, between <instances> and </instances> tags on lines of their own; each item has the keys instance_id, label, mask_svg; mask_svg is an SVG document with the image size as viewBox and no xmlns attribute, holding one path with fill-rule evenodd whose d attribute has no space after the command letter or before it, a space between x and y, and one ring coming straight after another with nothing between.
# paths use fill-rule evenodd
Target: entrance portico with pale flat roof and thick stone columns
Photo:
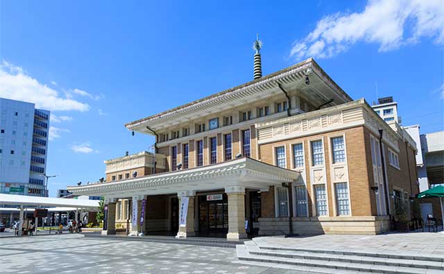
<instances>
[{"instance_id":1,"label":"entrance portico with pale flat roof and thick stone columns","mask_svg":"<svg viewBox=\"0 0 444 274\"><path fill-rule=\"evenodd\" d=\"M72 186L68 187L68 190L74 194L103 196L108 199L108 216L106 218L108 230L113 229L114 223L112 222L116 214L114 203L116 200L114 199L133 199L132 216L134 217L131 220L130 235L137 235L138 232L144 232L147 227L150 227L151 219L147 218L147 212L155 208L155 205L150 204L150 197L164 195L167 198L171 195L177 195L179 208L182 199L186 197L188 199L186 221L185 225L182 223L182 226L179 226L178 237L194 236L195 228L199 227L198 214L200 214L200 210L198 209L199 199L197 195L215 191L222 192L228 198L227 238L241 239L246 237L246 189L266 192L271 186L292 183L298 179L298 176L298 172L268 165L250 158L239 158L189 170L165 172L110 183ZM144 216L141 215L143 199L146 199ZM153 199L153 203L157 200ZM135 203L135 201L137 202ZM172 201L172 199L168 201ZM168 207L172 206L171 204ZM135 205L137 205L137 210L134 210ZM223 203L221 205L223 207ZM218 206L215 205L215 207ZM169 208L164 208L164 210L169 210ZM170 214L169 216L178 218L178 214ZM218 217L218 215L214 216ZM142 225L141 217L143 217ZM219 217L223 218L223 215ZM110 234L110 232L106 232L106 234Z\"/></svg>"}]
</instances>

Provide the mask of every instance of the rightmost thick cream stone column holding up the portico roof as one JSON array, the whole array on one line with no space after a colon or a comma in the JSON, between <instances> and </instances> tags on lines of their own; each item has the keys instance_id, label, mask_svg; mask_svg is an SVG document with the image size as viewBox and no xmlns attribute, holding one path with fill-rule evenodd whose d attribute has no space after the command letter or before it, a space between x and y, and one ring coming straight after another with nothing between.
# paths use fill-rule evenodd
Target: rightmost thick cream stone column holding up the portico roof
<instances>
[{"instance_id":1,"label":"rightmost thick cream stone column holding up the portico roof","mask_svg":"<svg viewBox=\"0 0 444 274\"><path fill-rule=\"evenodd\" d=\"M228 196L227 239L239 240L247 237L245 230L245 188L234 185L225 188Z\"/></svg>"}]
</instances>

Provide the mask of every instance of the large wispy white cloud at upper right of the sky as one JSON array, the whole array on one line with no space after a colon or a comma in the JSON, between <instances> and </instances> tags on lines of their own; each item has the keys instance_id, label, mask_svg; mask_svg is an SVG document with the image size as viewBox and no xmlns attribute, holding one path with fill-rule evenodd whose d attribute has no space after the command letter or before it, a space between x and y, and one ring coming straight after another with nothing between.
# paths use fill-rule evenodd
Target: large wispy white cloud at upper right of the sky
<instances>
[{"instance_id":1,"label":"large wispy white cloud at upper right of the sky","mask_svg":"<svg viewBox=\"0 0 444 274\"><path fill-rule=\"evenodd\" d=\"M379 44L391 51L430 37L444 44L442 0L369 0L363 12L327 15L307 37L294 42L290 57L328 58L357 42Z\"/></svg>"}]
</instances>

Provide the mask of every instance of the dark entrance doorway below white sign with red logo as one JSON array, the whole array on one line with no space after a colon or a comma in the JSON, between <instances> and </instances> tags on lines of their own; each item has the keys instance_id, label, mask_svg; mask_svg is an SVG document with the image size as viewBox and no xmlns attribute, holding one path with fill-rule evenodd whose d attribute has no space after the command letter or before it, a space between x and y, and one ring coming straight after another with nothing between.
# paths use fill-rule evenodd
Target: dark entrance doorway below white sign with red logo
<instances>
[{"instance_id":1,"label":"dark entrance doorway below white sign with red logo","mask_svg":"<svg viewBox=\"0 0 444 274\"><path fill-rule=\"evenodd\" d=\"M228 199L225 193L199 196L199 233L225 237L228 232Z\"/></svg>"}]
</instances>

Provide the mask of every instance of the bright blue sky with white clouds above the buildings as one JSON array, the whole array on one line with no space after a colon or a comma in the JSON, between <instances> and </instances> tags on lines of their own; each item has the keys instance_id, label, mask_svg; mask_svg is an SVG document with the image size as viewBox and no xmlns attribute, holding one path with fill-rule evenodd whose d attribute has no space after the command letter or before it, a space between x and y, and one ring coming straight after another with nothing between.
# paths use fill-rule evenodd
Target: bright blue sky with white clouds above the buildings
<instances>
[{"instance_id":1,"label":"bright blue sky with white clouds above the buildings","mask_svg":"<svg viewBox=\"0 0 444 274\"><path fill-rule=\"evenodd\" d=\"M422 2L0 1L0 97L52 111L50 196L153 144L125 122L252 80L256 33L264 75L313 56L352 98L377 82L403 125L440 131L444 10Z\"/></svg>"}]
</instances>

